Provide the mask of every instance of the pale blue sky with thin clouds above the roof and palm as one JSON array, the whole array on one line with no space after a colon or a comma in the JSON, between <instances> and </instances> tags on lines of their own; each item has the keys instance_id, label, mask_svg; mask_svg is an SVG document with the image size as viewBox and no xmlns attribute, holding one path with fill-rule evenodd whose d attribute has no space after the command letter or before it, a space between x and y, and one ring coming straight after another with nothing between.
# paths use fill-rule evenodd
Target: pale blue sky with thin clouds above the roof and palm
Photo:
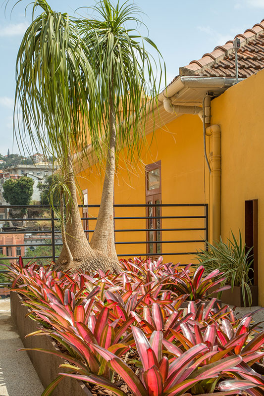
<instances>
[{"instance_id":1,"label":"pale blue sky with thin clouds above the roof and palm","mask_svg":"<svg viewBox=\"0 0 264 396\"><path fill-rule=\"evenodd\" d=\"M73 15L80 6L94 0L48 0L56 11ZM180 66L199 59L217 45L232 40L264 18L264 0L138 0L146 15L144 22L150 38L158 45L166 62L167 82L177 74ZM0 153L18 152L13 145L12 108L15 90L15 59L19 44L31 18L29 3L22 0L10 10L15 0L9 0L4 13L0 8ZM83 11L84 12L84 11ZM142 34L146 31L142 29Z\"/></svg>"}]
</instances>

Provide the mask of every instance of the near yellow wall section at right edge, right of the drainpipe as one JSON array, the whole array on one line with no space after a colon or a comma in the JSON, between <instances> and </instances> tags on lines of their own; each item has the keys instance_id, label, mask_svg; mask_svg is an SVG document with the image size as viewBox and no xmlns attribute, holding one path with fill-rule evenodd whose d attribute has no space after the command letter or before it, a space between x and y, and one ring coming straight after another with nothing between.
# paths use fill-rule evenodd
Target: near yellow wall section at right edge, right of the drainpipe
<instances>
[{"instance_id":1,"label":"near yellow wall section at right edge, right of the drainpipe","mask_svg":"<svg viewBox=\"0 0 264 396\"><path fill-rule=\"evenodd\" d=\"M245 200L258 199L259 286L264 283L264 70L212 100L221 127L221 234L243 232ZM259 287L264 306L264 288Z\"/></svg>"}]
</instances>

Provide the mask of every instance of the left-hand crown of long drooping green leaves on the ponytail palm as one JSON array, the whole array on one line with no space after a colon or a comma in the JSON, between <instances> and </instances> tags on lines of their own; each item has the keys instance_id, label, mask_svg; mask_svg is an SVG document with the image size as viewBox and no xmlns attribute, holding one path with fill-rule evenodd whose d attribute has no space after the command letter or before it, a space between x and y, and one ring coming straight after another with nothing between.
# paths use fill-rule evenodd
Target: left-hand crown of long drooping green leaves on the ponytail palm
<instances>
[{"instance_id":1,"label":"left-hand crown of long drooping green leaves on the ponytail palm","mask_svg":"<svg viewBox=\"0 0 264 396\"><path fill-rule=\"evenodd\" d=\"M42 12L35 17L37 7ZM41 148L63 168L65 154L90 143L87 131L94 125L88 113L97 113L95 75L88 49L66 13L37 0L32 19L16 59L14 132L24 147L28 133L28 151Z\"/></svg>"}]
</instances>

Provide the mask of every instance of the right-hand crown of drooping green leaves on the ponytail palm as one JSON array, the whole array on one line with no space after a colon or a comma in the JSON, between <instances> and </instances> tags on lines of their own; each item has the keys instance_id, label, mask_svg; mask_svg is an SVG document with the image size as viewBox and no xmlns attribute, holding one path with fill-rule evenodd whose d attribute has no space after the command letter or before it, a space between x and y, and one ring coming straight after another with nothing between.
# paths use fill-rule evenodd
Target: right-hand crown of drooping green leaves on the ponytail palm
<instances>
[{"instance_id":1,"label":"right-hand crown of drooping green leaves on the ponytail palm","mask_svg":"<svg viewBox=\"0 0 264 396\"><path fill-rule=\"evenodd\" d=\"M100 134L93 135L93 146L104 151L109 141L109 99L114 98L116 115L116 153L127 147L133 158L144 144L148 114L153 111L160 86L161 70L154 57L146 50L145 42L156 53L156 45L136 30L141 23L140 9L134 4L100 0L91 7L98 18L76 20L82 38L89 49L100 92L102 115ZM126 24L135 28L128 29ZM158 59L161 57L159 56Z\"/></svg>"}]
</instances>

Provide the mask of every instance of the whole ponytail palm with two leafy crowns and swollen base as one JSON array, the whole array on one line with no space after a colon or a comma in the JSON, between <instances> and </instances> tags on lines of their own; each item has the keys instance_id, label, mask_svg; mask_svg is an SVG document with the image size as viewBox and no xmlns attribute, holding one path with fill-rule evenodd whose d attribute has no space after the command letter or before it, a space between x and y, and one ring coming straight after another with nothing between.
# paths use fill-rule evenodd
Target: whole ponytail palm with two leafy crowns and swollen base
<instances>
[{"instance_id":1,"label":"whole ponytail palm with two leafy crowns and swollen base","mask_svg":"<svg viewBox=\"0 0 264 396\"><path fill-rule=\"evenodd\" d=\"M42 13L35 17L38 6ZM131 157L140 151L157 94L153 59L144 40L156 46L124 27L139 22L134 5L118 1L114 6L100 0L93 9L98 19L76 20L53 11L46 0L34 2L33 21L17 55L15 132L23 145L28 132L28 149L41 148L47 157L53 156L62 173L66 229L57 264L118 270L113 230L115 158L124 146ZM91 145L100 160L106 157L106 175L89 245L78 210L73 154L76 161L88 158Z\"/></svg>"}]
</instances>

